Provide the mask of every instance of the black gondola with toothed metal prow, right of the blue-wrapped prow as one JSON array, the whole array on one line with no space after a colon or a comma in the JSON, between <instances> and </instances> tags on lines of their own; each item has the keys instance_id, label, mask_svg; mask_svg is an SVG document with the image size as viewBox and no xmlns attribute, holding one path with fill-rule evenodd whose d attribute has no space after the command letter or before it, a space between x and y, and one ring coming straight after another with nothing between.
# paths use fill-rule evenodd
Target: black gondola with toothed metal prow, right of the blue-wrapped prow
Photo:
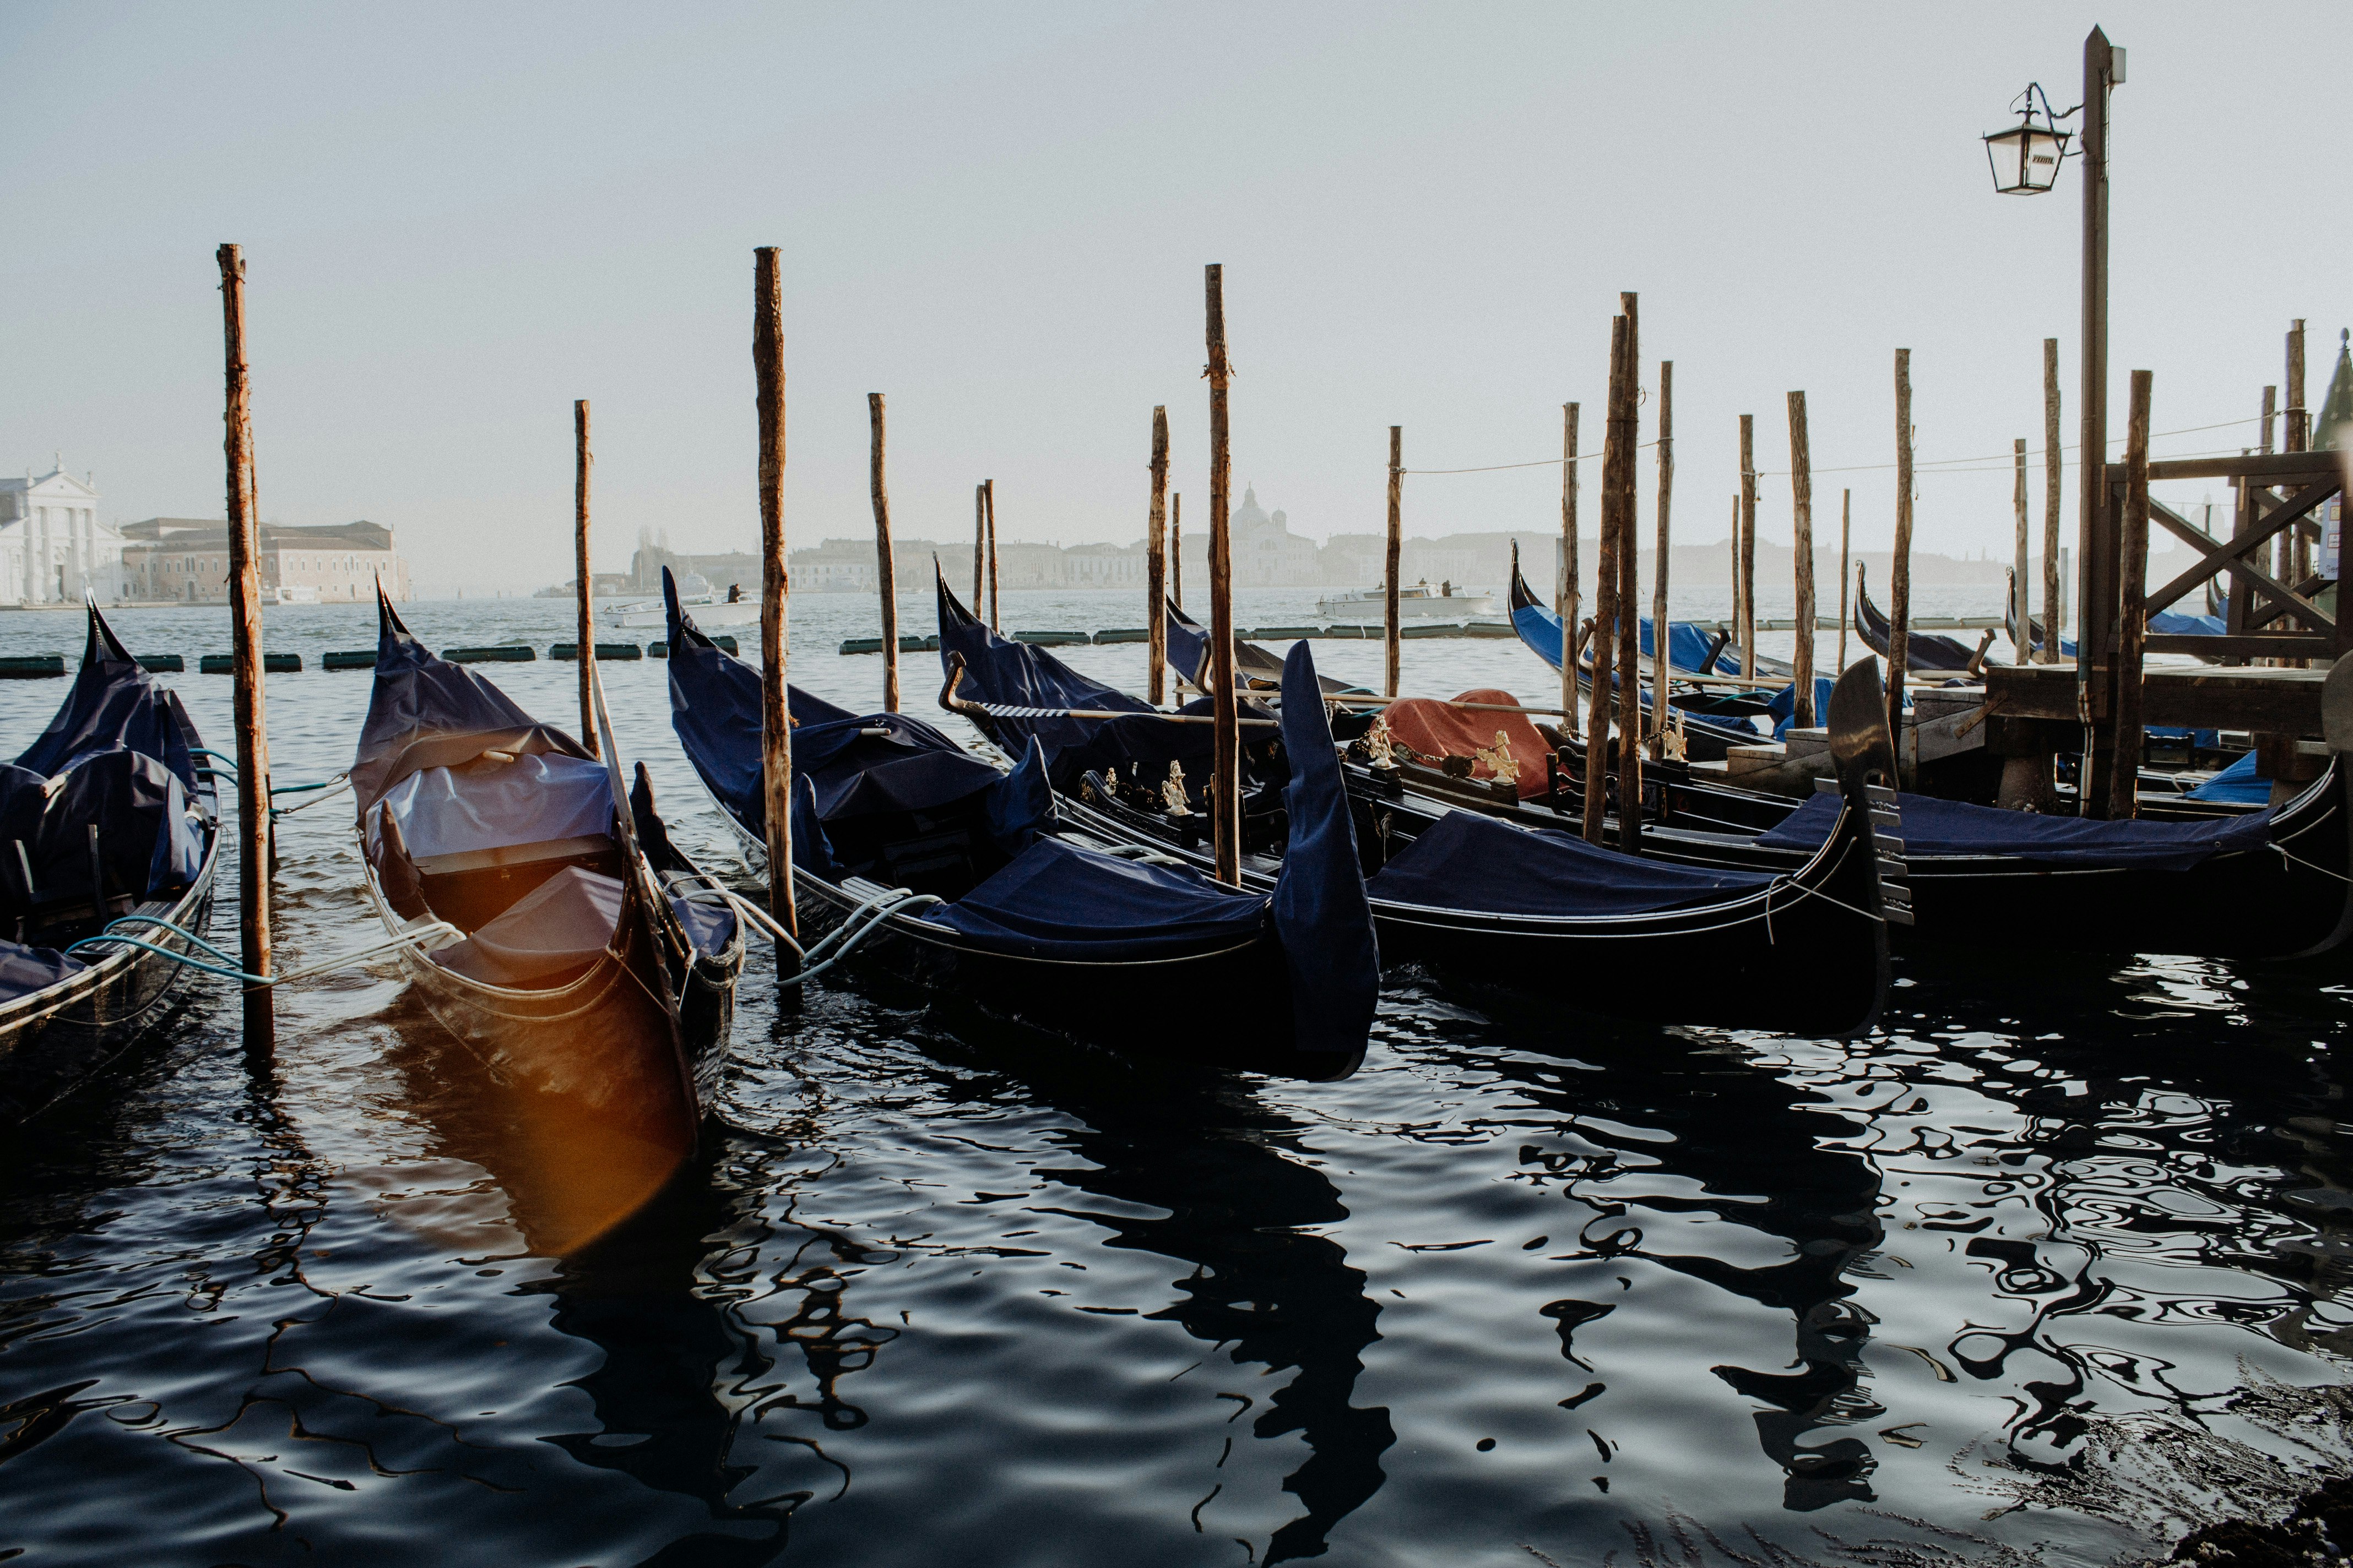
<instances>
[{"instance_id":1,"label":"black gondola with toothed metal prow, right of the blue-wrapped prow","mask_svg":"<svg viewBox=\"0 0 2353 1568\"><path fill-rule=\"evenodd\" d=\"M941 701L972 717L998 748L1033 755L1047 776L1099 741L1071 722L1033 715L1134 705L1045 649L995 637L946 583L939 585L939 644L951 677ZM1297 649L1292 661L1301 661ZM976 701L958 693L965 684ZM1031 701L1026 691L1049 691L1052 701ZM1501 985L1645 1020L1809 1034L1868 1027L1887 987L1887 910L1904 917L1899 889L1882 905L1873 853L1871 776L1894 776L1875 693L1878 670L1868 663L1833 693L1842 811L1828 839L1791 875L1642 860L1475 811L1384 820L1379 802L1353 799L1355 837L1377 867L1365 891L1381 954L1424 961L1478 987ZM1322 693L1313 686L1285 691L1280 764L1294 771L1320 764L1320 755L1289 733L1301 705L1320 712ZM1151 799L1144 783L1158 783L1165 795L1181 780L1113 783L1089 769L1066 788L1068 811L1104 835L1148 835L1169 853L1200 860L1205 846L1191 799L1176 811L1179 799L1167 795L1167 809L1155 811L1144 804ZM1892 832L1894 795L1880 788L1880 799L1878 816ZM1297 818L1287 827L1287 839L1245 856L1245 886L1268 886L1289 870ZM1249 837L1245 830L1245 846ZM1897 853L1887 853L1889 867L1899 865ZM1793 983L1793 973L1802 980ZM1694 976L1706 983L1694 985Z\"/></svg>"}]
</instances>

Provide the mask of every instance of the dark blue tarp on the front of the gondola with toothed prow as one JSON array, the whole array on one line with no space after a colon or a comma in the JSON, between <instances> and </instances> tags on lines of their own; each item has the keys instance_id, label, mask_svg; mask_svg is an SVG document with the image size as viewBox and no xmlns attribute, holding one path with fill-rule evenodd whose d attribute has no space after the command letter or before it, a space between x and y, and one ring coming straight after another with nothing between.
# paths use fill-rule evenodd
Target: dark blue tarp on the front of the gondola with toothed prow
<instances>
[{"instance_id":1,"label":"dark blue tarp on the front of the gondola with toothed prow","mask_svg":"<svg viewBox=\"0 0 2353 1568\"><path fill-rule=\"evenodd\" d=\"M1447 811L1365 884L1374 900L1494 914L1649 914L1725 903L1769 872L1722 872L1642 860L1565 832Z\"/></svg>"}]
</instances>

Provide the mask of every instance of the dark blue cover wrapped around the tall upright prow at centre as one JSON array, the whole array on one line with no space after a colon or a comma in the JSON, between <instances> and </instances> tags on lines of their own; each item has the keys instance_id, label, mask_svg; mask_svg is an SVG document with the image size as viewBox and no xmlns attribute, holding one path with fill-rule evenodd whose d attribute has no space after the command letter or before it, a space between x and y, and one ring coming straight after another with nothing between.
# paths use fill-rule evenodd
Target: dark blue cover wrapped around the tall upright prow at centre
<instances>
[{"instance_id":1,"label":"dark blue cover wrapped around the tall upright prow at centre","mask_svg":"<svg viewBox=\"0 0 2353 1568\"><path fill-rule=\"evenodd\" d=\"M1292 1039L1301 1051L1365 1048L1381 992L1381 950L1348 818L1348 785L1315 679L1315 656L1294 642L1282 661L1282 785L1289 842L1275 877L1275 931L1292 976Z\"/></svg>"}]
</instances>

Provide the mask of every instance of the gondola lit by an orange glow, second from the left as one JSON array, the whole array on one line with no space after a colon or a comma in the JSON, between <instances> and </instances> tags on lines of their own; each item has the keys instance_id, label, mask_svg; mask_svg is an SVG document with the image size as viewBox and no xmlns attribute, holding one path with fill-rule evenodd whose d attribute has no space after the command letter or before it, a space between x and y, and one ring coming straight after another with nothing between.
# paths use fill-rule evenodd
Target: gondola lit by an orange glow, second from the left
<instances>
[{"instance_id":1,"label":"gondola lit by an orange glow, second from the left","mask_svg":"<svg viewBox=\"0 0 2353 1568\"><path fill-rule=\"evenodd\" d=\"M426 1009L581 1138L694 1152L744 969L741 922L673 844L638 766L426 651L376 595L351 764L360 858ZM598 691L602 705L602 691Z\"/></svg>"}]
</instances>

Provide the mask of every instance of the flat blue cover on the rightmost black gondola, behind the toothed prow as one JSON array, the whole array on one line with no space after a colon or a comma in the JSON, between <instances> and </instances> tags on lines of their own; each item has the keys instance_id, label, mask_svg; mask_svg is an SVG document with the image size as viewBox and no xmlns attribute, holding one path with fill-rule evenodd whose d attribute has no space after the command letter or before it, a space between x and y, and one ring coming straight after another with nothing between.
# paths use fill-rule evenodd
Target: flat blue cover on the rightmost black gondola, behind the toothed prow
<instances>
[{"instance_id":1,"label":"flat blue cover on the rightmost black gondola, behind the toothed prow","mask_svg":"<svg viewBox=\"0 0 2353 1568\"><path fill-rule=\"evenodd\" d=\"M2106 823L1901 795L1906 856L2017 856L2045 865L2186 872L2200 860L2271 842L2271 811L2207 823ZM1838 820L1838 797L1817 795L1758 844L1819 849Z\"/></svg>"}]
</instances>

